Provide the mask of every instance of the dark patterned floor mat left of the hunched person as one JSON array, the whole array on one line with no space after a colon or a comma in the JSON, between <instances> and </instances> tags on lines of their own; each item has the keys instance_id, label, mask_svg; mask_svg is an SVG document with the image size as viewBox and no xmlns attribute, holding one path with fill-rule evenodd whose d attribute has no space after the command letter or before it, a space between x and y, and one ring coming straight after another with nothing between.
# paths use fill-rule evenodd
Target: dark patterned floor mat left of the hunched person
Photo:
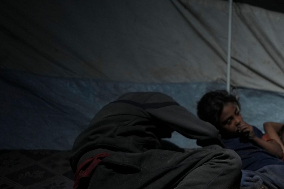
<instances>
[{"instance_id":1,"label":"dark patterned floor mat left of the hunched person","mask_svg":"<svg viewBox=\"0 0 284 189\"><path fill-rule=\"evenodd\" d=\"M0 150L0 189L71 189L70 151Z\"/></svg>"}]
</instances>

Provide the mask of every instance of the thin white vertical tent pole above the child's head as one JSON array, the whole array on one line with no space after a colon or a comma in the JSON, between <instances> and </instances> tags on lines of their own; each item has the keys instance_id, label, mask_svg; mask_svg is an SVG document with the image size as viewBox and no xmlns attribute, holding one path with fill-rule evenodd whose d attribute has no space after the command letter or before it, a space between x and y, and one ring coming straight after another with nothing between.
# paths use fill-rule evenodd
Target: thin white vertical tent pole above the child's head
<instances>
[{"instance_id":1,"label":"thin white vertical tent pole above the child's head","mask_svg":"<svg viewBox=\"0 0 284 189\"><path fill-rule=\"evenodd\" d=\"M233 0L229 0L228 51L227 51L227 92L228 93L230 93L230 77L231 77L232 4Z\"/></svg>"}]
</instances>

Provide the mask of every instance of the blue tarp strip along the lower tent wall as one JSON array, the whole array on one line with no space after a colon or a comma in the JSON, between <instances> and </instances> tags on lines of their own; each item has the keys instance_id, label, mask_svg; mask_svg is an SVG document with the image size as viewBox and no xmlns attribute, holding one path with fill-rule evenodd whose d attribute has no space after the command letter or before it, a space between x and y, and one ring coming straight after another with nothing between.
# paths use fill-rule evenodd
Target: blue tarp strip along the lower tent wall
<instances>
[{"instance_id":1,"label":"blue tarp strip along the lower tent wall","mask_svg":"<svg viewBox=\"0 0 284 189\"><path fill-rule=\"evenodd\" d=\"M60 78L1 69L0 87L0 149L68 150L96 112L125 92L164 92L196 115L197 102L205 92L226 86ZM284 94L245 88L237 92L247 123L262 129L265 121L284 122ZM178 133L170 141L180 147L196 147L194 140Z\"/></svg>"}]
</instances>

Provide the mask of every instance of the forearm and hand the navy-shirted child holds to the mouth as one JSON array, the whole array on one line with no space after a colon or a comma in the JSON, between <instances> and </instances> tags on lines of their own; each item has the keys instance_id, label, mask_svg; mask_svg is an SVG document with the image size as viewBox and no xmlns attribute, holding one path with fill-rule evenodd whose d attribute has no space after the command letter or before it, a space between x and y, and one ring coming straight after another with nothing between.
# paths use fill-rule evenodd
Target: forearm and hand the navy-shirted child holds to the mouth
<instances>
[{"instance_id":1,"label":"forearm and hand the navy-shirted child holds to the mouth","mask_svg":"<svg viewBox=\"0 0 284 189\"><path fill-rule=\"evenodd\" d=\"M276 155L278 158L282 159L283 150L281 146L275 141L265 141L257 136L255 136L254 129L251 125L246 122L242 122L239 126L240 133L244 133L249 140L253 141L257 145L261 146L264 150Z\"/></svg>"}]
</instances>

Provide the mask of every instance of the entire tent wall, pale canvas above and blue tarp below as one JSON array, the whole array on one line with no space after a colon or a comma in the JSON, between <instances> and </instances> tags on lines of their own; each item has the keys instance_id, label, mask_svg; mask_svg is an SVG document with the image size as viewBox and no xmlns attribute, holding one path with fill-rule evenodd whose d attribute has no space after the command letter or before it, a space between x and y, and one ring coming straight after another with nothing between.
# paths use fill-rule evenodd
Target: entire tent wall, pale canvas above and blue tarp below
<instances>
[{"instance_id":1,"label":"entire tent wall, pale canvas above and blue tarp below","mask_svg":"<svg viewBox=\"0 0 284 189\"><path fill-rule=\"evenodd\" d=\"M284 122L282 18L233 4L231 82L261 129ZM225 89L227 2L4 0L0 41L0 149L70 149L125 92L164 92L195 114L206 91Z\"/></svg>"}]
</instances>

